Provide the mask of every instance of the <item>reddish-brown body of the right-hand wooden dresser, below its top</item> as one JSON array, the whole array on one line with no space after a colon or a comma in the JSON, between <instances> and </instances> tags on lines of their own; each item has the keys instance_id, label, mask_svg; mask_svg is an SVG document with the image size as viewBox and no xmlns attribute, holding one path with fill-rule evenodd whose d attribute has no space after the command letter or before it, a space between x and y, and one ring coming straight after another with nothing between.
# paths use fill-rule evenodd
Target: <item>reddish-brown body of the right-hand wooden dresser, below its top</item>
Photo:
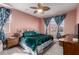
<instances>
[{"instance_id":1,"label":"reddish-brown body of the right-hand wooden dresser, below its top","mask_svg":"<svg viewBox=\"0 0 79 59\"><path fill-rule=\"evenodd\" d=\"M79 42L64 42L63 41L63 54L64 55L79 55Z\"/></svg>"}]
</instances>

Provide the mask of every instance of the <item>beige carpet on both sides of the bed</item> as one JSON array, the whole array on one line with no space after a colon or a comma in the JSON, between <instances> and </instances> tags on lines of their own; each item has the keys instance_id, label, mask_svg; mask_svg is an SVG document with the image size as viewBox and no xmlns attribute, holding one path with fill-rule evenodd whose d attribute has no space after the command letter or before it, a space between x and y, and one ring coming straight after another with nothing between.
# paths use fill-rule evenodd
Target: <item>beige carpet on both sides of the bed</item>
<instances>
[{"instance_id":1,"label":"beige carpet on both sides of the bed","mask_svg":"<svg viewBox=\"0 0 79 59\"><path fill-rule=\"evenodd\" d=\"M7 50L4 50L4 51L0 52L0 55L12 55L12 54L16 54L17 55L17 53L25 54L23 52L23 49L21 49L19 47L14 47L14 48L7 49ZM59 42L56 42L43 55L63 55L63 48L59 45Z\"/></svg>"}]
</instances>

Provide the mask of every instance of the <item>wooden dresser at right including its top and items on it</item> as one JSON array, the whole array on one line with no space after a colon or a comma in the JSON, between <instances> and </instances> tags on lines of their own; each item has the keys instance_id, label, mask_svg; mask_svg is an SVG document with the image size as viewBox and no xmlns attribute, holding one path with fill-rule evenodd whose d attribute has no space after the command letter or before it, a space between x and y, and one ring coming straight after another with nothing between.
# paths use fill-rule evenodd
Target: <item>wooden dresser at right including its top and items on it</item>
<instances>
[{"instance_id":1,"label":"wooden dresser at right including its top and items on it","mask_svg":"<svg viewBox=\"0 0 79 59\"><path fill-rule=\"evenodd\" d=\"M63 47L64 55L79 55L79 40L73 34L67 34L59 39L59 44Z\"/></svg>"}]
</instances>

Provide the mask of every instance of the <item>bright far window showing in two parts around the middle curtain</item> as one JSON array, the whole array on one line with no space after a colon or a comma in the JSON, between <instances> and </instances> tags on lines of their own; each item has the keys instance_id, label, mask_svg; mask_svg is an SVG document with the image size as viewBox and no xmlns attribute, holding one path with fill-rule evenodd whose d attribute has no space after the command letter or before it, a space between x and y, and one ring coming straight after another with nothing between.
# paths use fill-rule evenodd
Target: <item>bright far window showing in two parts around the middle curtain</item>
<instances>
[{"instance_id":1,"label":"bright far window showing in two parts around the middle curtain","mask_svg":"<svg viewBox=\"0 0 79 59\"><path fill-rule=\"evenodd\" d=\"M48 26L48 34L52 35L54 38L56 38L58 31L58 26L54 20L54 18L51 19L49 26ZM59 26L59 33L60 35L64 34L64 21Z\"/></svg>"}]
</instances>

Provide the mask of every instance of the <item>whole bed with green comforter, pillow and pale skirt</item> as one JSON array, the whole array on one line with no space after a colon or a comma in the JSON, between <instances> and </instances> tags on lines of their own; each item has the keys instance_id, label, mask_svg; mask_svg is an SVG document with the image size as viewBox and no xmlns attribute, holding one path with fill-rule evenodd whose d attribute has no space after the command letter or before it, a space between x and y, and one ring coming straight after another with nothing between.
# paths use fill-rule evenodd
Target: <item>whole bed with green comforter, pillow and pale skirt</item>
<instances>
[{"instance_id":1,"label":"whole bed with green comforter, pillow and pale skirt","mask_svg":"<svg viewBox=\"0 0 79 59\"><path fill-rule=\"evenodd\" d=\"M40 54L44 52L44 48L53 42L50 35L40 34L34 31L26 31L20 38L20 46L30 54Z\"/></svg>"}]
</instances>

